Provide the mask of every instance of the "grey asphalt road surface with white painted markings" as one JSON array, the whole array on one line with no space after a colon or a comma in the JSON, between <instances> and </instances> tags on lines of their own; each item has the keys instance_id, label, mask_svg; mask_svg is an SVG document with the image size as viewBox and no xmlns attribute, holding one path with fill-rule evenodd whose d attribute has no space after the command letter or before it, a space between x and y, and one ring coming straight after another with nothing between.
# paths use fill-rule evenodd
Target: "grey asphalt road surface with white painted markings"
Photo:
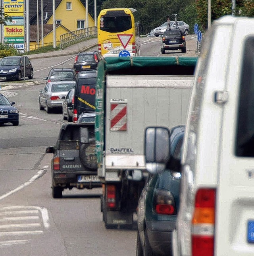
<instances>
[{"instance_id":1,"label":"grey asphalt road surface with white painted markings","mask_svg":"<svg viewBox=\"0 0 254 256\"><path fill-rule=\"evenodd\" d=\"M143 38L142 55L159 56L159 40ZM195 56L188 43L186 54L171 51L163 55L171 54ZM100 189L73 188L64 190L62 199L51 196L52 155L44 152L47 146L54 145L60 126L67 121L62 120L61 113L39 111L37 97L49 69L72 67L74 58L33 60L35 79L42 83L11 91L10 100L16 102L20 112L20 125L0 126L0 255L135 255L135 229L105 229Z\"/></svg>"}]
</instances>

